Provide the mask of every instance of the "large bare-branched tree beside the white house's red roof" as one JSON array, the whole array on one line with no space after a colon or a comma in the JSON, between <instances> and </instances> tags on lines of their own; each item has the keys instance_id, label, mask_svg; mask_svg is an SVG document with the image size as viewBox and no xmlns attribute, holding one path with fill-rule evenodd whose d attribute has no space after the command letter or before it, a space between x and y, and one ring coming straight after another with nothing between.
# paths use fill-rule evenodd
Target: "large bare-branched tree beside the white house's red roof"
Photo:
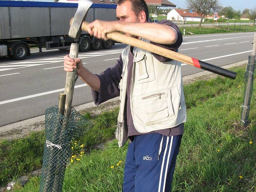
<instances>
[{"instance_id":1,"label":"large bare-branched tree beside the white house's red roof","mask_svg":"<svg viewBox=\"0 0 256 192\"><path fill-rule=\"evenodd\" d=\"M210 12L218 11L220 7L219 0L186 0L186 4L189 10L193 10L200 15L200 28L204 18L207 17Z\"/></svg>"}]
</instances>

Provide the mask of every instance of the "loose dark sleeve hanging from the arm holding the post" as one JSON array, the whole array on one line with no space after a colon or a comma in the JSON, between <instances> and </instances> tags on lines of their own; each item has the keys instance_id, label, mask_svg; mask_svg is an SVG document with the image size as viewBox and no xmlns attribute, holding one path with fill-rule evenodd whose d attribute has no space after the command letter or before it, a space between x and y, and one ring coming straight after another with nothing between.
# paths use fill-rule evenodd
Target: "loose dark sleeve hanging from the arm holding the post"
<instances>
[{"instance_id":1,"label":"loose dark sleeve hanging from the arm holding the post","mask_svg":"<svg viewBox=\"0 0 256 192\"><path fill-rule=\"evenodd\" d=\"M121 80L122 69L123 61L120 55L116 65L107 68L100 75L97 75L100 78L100 92L91 89L95 105L119 96L118 84Z\"/></svg>"}]
</instances>

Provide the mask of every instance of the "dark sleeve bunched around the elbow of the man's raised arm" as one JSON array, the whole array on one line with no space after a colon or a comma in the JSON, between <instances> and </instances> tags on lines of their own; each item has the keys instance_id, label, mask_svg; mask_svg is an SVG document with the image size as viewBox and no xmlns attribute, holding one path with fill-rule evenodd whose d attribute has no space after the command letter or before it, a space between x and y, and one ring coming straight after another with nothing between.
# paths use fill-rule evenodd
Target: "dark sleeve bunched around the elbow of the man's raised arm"
<instances>
[{"instance_id":1,"label":"dark sleeve bunched around the elbow of the man's raised arm","mask_svg":"<svg viewBox=\"0 0 256 192\"><path fill-rule=\"evenodd\" d=\"M160 46L160 47L163 47L165 49L169 49L169 50L177 52L178 48L180 47L180 45L182 43L182 33L180 32L180 29L178 28L177 25L175 25L172 21L169 21L169 20L161 20L158 23L159 24L163 24L163 25L168 25L168 26L170 26L171 28L173 28L177 32L176 42L174 44L170 44L170 45L168 45L168 44L157 44L157 43L154 43L154 42L150 42L150 43L154 44L154 45L157 45L157 46ZM169 59L167 57L164 57L164 56L161 56L161 55L157 55L155 53L152 53L152 54L160 62L171 61L172 60L172 59Z\"/></svg>"}]
</instances>

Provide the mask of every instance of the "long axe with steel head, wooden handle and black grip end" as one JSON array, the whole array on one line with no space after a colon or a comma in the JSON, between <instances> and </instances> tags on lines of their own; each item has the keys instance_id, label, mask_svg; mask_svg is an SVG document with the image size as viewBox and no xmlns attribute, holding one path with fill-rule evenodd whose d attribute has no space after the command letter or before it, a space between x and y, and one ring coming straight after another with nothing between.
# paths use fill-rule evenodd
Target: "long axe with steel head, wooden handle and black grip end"
<instances>
[{"instance_id":1,"label":"long axe with steel head, wooden handle and black grip end","mask_svg":"<svg viewBox=\"0 0 256 192\"><path fill-rule=\"evenodd\" d=\"M84 12L85 11L87 12L86 9L88 10L89 7L84 7ZM77 12L78 12L78 9L77 9ZM82 20L82 16L78 17L79 14L77 14L77 12L76 12L75 17L70 20L71 27L70 27L68 36L73 37L73 38L77 38L78 36L80 36L81 30L87 31L87 25L88 25L87 22ZM152 53L156 53L158 55L162 55L162 56L167 57L172 60L177 60L177 61L189 64L189 65L192 65L194 67L201 68L201 69L204 69L204 70L207 70L207 71L210 71L210 72L222 75L222 76L226 76L226 77L229 77L232 79L236 78L235 72L214 66L212 64L206 63L204 61L200 61L198 59L189 57L187 55L183 55L178 52L174 52L174 51L141 41L141 40L133 38L133 37L125 36L118 32L111 32L111 33L106 34L106 36L108 39L112 39L117 42L129 44L133 47L138 47L140 49L143 49L143 50L146 50L146 51L149 51Z\"/></svg>"}]
</instances>

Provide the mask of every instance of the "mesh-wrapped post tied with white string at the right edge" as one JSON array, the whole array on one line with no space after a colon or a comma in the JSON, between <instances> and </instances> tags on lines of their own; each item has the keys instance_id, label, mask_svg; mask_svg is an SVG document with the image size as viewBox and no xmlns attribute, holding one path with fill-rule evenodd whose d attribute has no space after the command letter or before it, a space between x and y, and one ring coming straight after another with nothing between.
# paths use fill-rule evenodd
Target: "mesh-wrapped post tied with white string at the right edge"
<instances>
[{"instance_id":1,"label":"mesh-wrapped post tied with white string at the right edge","mask_svg":"<svg viewBox=\"0 0 256 192\"><path fill-rule=\"evenodd\" d=\"M250 103L253 92L253 73L256 64L256 56L249 56L249 60L245 70L245 86L244 86L244 101L241 113L240 126L244 127L247 125L249 112L250 112Z\"/></svg>"}]
</instances>

